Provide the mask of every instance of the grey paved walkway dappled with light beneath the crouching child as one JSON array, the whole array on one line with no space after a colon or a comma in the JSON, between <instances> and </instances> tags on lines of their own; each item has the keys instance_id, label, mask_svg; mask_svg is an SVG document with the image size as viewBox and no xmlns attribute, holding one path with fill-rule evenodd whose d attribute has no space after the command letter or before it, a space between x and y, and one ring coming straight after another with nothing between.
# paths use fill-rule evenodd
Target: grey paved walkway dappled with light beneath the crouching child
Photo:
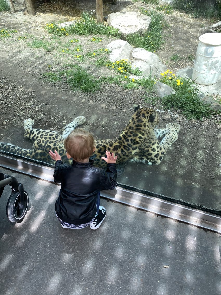
<instances>
[{"instance_id":1,"label":"grey paved walkway dappled with light beneath the crouching child","mask_svg":"<svg viewBox=\"0 0 221 295\"><path fill-rule=\"evenodd\" d=\"M6 217L0 199L1 295L220 295L221 237L101 199L98 230L63 229L54 203L60 186L1 169L24 184L29 211Z\"/></svg>"}]
</instances>

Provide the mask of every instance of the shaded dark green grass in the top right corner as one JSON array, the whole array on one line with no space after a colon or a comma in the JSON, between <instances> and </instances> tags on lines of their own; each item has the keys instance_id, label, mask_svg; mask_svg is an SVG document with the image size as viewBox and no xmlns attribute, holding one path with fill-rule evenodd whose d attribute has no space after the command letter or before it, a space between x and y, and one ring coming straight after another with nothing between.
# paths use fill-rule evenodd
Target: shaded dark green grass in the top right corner
<instances>
[{"instance_id":1,"label":"shaded dark green grass in the top right corner","mask_svg":"<svg viewBox=\"0 0 221 295\"><path fill-rule=\"evenodd\" d=\"M221 17L221 5L216 4L215 6L210 1L198 0L174 0L173 8L181 12L191 14L194 18L205 17L208 19Z\"/></svg>"}]
</instances>

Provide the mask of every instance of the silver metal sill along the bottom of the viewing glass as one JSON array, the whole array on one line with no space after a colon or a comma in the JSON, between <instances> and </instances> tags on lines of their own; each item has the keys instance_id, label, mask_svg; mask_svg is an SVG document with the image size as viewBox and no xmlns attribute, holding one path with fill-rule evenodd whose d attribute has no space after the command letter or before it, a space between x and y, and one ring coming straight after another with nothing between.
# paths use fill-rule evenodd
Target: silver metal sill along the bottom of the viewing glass
<instances>
[{"instance_id":1,"label":"silver metal sill along the bottom of the viewing glass","mask_svg":"<svg viewBox=\"0 0 221 295\"><path fill-rule=\"evenodd\" d=\"M53 166L40 163L0 154L0 167L54 183ZM200 206L196 208L183 201L138 190L120 183L112 191L101 191L100 196L147 212L169 217L176 221L221 233L221 212L216 214L215 210L200 208Z\"/></svg>"}]
</instances>

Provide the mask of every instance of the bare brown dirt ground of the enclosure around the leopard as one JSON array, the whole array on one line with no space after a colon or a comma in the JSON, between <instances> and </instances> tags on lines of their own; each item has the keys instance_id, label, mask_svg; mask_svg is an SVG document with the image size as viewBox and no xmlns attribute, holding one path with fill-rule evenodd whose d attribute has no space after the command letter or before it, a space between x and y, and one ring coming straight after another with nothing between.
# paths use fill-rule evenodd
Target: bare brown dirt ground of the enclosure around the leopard
<instances>
[{"instance_id":1,"label":"bare brown dirt ground of the enclosure around the leopard","mask_svg":"<svg viewBox=\"0 0 221 295\"><path fill-rule=\"evenodd\" d=\"M79 1L80 2L80 1ZM89 3L91 9L95 2ZM62 46L71 37L62 37L61 44L45 30L50 22L63 22L77 15L37 13L35 16L24 12L21 1L15 3L15 14L3 12L0 14L0 29L17 30L11 38L1 38L0 64L0 135L1 142L10 142L24 148L31 148L32 143L25 140L23 121L32 118L35 127L60 131L73 118L83 115L87 121L84 127L94 133L96 138L116 137L128 123L133 114L133 104L154 107L164 110L160 113L159 128L169 122L178 122L181 126L179 139L167 152L159 166L144 164L127 164L118 182L154 191L159 194L183 199L191 203L202 204L205 207L221 209L219 183L221 179L221 116L214 115L203 121L187 120L181 112L163 109L156 103L145 102L145 97L156 96L147 94L143 89L124 90L120 86L103 84L94 93L72 91L65 82L48 83L42 73L55 72L65 63L73 63L70 55L62 53ZM88 5L89 5L88 4ZM85 4L86 5L86 4ZM128 11L139 11L139 7L149 9L141 1L118 1L118 9L125 7ZM111 9L111 5L109 6ZM165 15L170 24L162 32L166 43L156 54L168 68L177 69L193 67L188 59L195 55L199 40L199 28L209 22L204 19L191 19L179 13ZM19 36L27 39L18 40ZM76 37L76 36L75 36ZM83 45L84 54L105 46L114 38L102 36L102 42L93 44L93 36L77 36ZM33 49L28 42L34 38L43 38L54 42L55 50L46 52L43 49ZM179 54L182 60L173 62L171 55ZM110 75L110 70L96 68L93 60L88 59L81 66L96 77ZM129 176L133 176L133 181ZM142 171L142 172L141 172ZM174 174L175 173L175 174ZM151 181L146 182L145 179ZM160 185L159 185L160 183ZM175 189L174 189L175 188Z\"/></svg>"}]
</instances>

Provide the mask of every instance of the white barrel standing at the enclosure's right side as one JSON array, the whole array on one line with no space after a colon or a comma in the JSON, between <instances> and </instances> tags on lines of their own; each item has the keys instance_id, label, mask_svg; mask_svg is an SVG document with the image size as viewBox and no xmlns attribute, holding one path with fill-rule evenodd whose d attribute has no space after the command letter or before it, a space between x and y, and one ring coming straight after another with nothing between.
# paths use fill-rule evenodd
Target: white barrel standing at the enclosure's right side
<instances>
[{"instance_id":1,"label":"white barrel standing at the enclosure's right side","mask_svg":"<svg viewBox=\"0 0 221 295\"><path fill-rule=\"evenodd\" d=\"M199 37L192 80L200 85L215 84L221 73L221 33Z\"/></svg>"}]
</instances>

